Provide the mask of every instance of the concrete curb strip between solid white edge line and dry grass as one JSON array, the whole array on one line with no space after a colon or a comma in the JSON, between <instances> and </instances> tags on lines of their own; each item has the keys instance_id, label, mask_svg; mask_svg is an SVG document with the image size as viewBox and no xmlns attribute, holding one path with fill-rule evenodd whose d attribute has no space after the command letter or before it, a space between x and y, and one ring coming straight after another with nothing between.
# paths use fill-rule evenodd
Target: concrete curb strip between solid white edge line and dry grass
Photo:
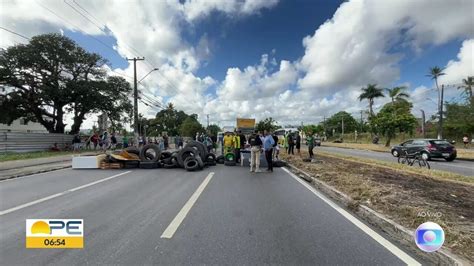
<instances>
[{"instance_id":1,"label":"concrete curb strip between solid white edge line and dry grass","mask_svg":"<svg viewBox=\"0 0 474 266\"><path fill-rule=\"evenodd\" d=\"M398 244L402 245L405 249L410 250L411 252L417 254L419 257L423 258L426 261L429 261L435 265L469 265L470 263L464 259L458 257L457 255L452 254L446 248L442 248L437 252L426 253L419 250L413 243L413 231L408 228L403 227L402 225L397 224L391 219L385 217L383 214L365 206L363 204L356 204L349 196L343 192L331 187L325 182L318 180L313 177L311 174L305 172L294 166L293 164L288 163L288 168L294 172L298 177L304 179L305 181L311 183L315 188L329 196L330 198L341 203L343 206L355 213L363 221L369 223L370 225L376 227L378 230L390 235L392 239Z\"/></svg>"}]
</instances>

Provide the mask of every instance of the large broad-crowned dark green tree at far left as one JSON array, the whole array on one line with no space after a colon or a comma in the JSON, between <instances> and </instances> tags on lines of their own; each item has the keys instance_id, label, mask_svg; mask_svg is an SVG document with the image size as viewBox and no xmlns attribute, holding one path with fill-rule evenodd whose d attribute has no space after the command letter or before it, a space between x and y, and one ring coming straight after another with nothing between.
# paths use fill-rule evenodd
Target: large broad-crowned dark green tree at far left
<instances>
[{"instance_id":1,"label":"large broad-crowned dark green tree at far left","mask_svg":"<svg viewBox=\"0 0 474 266\"><path fill-rule=\"evenodd\" d=\"M71 133L76 133L91 112L103 111L119 121L130 107L130 85L122 78L106 79L105 63L60 34L9 47L0 54L0 84L7 88L0 98L0 122L23 117L49 132L64 133L64 116L71 112Z\"/></svg>"}]
</instances>

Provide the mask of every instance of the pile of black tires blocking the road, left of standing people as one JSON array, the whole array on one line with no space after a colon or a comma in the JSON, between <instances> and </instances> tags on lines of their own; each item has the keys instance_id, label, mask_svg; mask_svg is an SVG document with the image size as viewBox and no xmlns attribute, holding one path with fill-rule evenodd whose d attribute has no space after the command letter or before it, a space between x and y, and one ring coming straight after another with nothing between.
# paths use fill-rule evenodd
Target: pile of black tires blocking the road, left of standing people
<instances>
[{"instance_id":1,"label":"pile of black tires blocking the road, left of standing people","mask_svg":"<svg viewBox=\"0 0 474 266\"><path fill-rule=\"evenodd\" d=\"M139 167L144 169L184 168L187 171L197 171L216 165L216 155L208 153L207 147L198 141L190 141L183 149L175 152L161 151L155 144L145 145L141 149L129 147L125 150L137 154L140 158ZM132 164L137 167L138 162L127 163L125 168L132 168Z\"/></svg>"}]
</instances>

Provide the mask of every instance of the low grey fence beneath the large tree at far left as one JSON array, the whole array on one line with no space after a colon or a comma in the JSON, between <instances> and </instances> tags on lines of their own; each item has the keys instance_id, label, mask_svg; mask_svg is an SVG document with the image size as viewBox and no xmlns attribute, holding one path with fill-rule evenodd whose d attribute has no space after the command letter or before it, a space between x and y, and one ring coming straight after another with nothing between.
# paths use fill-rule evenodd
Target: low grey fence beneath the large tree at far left
<instances>
[{"instance_id":1,"label":"low grey fence beneath the large tree at far left","mask_svg":"<svg viewBox=\"0 0 474 266\"><path fill-rule=\"evenodd\" d=\"M71 145L72 135L51 133L0 133L0 152L45 151L57 143L60 148Z\"/></svg>"}]
</instances>

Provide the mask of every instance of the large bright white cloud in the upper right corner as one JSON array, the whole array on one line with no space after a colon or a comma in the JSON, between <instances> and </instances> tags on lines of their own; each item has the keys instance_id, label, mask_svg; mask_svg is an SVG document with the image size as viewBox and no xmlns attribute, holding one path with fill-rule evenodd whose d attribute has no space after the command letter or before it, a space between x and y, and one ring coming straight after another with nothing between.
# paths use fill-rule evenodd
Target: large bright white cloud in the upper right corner
<instances>
[{"instance_id":1,"label":"large bright white cloud in the upper right corner","mask_svg":"<svg viewBox=\"0 0 474 266\"><path fill-rule=\"evenodd\" d=\"M299 80L305 90L323 95L367 83L388 85L399 78L400 47L419 52L426 44L442 44L474 36L473 3L441 1L350 1L332 19L303 39L305 54Z\"/></svg>"}]
</instances>

